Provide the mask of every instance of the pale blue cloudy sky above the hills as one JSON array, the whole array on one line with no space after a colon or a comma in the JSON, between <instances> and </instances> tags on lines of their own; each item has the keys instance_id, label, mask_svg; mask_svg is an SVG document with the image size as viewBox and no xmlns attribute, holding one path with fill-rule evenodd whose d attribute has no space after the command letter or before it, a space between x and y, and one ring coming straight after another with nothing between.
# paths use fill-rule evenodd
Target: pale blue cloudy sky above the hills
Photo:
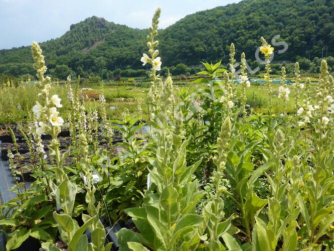
<instances>
[{"instance_id":1,"label":"pale blue cloudy sky above the hills","mask_svg":"<svg viewBox=\"0 0 334 251\"><path fill-rule=\"evenodd\" d=\"M27 46L62 36L91 16L131 28L148 28L161 7L159 28L202 10L240 0L0 0L0 49Z\"/></svg>"}]
</instances>

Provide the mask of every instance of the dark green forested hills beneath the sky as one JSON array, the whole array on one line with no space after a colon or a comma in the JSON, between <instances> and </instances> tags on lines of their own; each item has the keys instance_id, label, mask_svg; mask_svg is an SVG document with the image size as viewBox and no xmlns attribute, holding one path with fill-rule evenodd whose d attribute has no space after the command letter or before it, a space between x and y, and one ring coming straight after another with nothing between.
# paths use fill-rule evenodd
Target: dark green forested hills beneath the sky
<instances>
[{"instance_id":1,"label":"dark green forested hills beneath the sky","mask_svg":"<svg viewBox=\"0 0 334 251\"><path fill-rule=\"evenodd\" d=\"M288 43L288 50L275 59L296 56L321 57L322 50L334 55L334 1L332 0L244 0L185 17L160 30L160 55L164 65L198 64L203 60L228 58L233 42L254 59L260 37L268 42L275 35ZM76 74L98 74L102 70L141 68L146 51L146 30L91 17L71 25L62 37L41 44L49 69L56 66ZM282 49L282 48L276 48ZM0 74L33 73L30 47L0 50Z\"/></svg>"}]
</instances>

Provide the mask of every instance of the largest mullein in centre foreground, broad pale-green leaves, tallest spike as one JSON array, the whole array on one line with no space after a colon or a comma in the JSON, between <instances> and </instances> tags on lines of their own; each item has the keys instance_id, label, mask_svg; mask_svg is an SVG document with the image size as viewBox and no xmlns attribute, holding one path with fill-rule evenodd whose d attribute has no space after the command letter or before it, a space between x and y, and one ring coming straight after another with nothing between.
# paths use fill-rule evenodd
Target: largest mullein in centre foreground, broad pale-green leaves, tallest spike
<instances>
[{"instance_id":1,"label":"largest mullein in centre foreground, broad pale-green leaves, tallest spike","mask_svg":"<svg viewBox=\"0 0 334 251\"><path fill-rule=\"evenodd\" d=\"M160 14L160 9L153 18L155 24L157 13ZM140 234L121 229L118 234L120 250L146 250L145 246L154 250L188 250L206 238L202 225L204 217L195 214L204 192L198 191L199 182L192 177L201 161L187 167L186 147L190 139L184 138L183 113L178 112L174 123L166 114L171 84L169 77L161 94L154 95L156 117L151 124L156 128L152 137L156 152L149 158L151 167L144 203L139 208L126 209ZM153 79L152 90L154 85ZM151 188L153 184L155 189Z\"/></svg>"}]
</instances>

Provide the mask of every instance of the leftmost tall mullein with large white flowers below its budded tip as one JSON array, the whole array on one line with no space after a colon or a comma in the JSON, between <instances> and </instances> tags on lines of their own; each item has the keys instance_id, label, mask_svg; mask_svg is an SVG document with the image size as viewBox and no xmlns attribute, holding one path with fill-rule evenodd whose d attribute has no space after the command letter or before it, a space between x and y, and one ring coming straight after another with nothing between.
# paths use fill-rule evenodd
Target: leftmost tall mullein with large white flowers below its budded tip
<instances>
[{"instance_id":1,"label":"leftmost tall mullein with large white flowers below its budded tip","mask_svg":"<svg viewBox=\"0 0 334 251\"><path fill-rule=\"evenodd\" d=\"M47 167L46 169L55 173L56 178L56 183L53 180L49 181L49 186L52 190L51 195L56 200L57 208L57 211L53 212L53 216L58 223L58 229L63 241L66 243L71 243L71 241L77 243L81 237L79 232L81 232L82 228L79 229L80 231L77 230L78 224L71 216L78 188L76 184L69 181L68 176L63 170L63 163L65 158L69 156L70 149L61 156L59 150L60 144L57 140L57 136L61 132L61 126L64 123L63 118L59 116L59 112L57 111L58 107L62 107L60 103L61 99L56 94L49 97L51 79L50 77L44 77L47 67L45 66L42 50L36 42L33 42L32 52L35 61L34 68L37 70L37 76L40 80L36 83L36 86L41 90L38 95L39 101L36 102L37 104L33 107L33 111L37 119L41 119L41 116L43 116L44 121L47 121L46 123L39 121L39 128L37 128L36 132L40 135L50 134L52 136L51 144L48 147L50 155L56 161L56 167ZM87 227L86 224L84 226Z\"/></svg>"}]
</instances>

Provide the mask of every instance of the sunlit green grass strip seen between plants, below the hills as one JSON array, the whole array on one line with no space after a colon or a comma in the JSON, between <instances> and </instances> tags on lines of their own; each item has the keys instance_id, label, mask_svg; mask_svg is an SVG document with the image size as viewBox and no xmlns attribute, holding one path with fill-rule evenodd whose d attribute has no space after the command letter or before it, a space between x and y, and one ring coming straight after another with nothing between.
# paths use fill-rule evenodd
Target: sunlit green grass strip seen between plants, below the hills
<instances>
[{"instance_id":1,"label":"sunlit green grass strip seen between plants, below the hills","mask_svg":"<svg viewBox=\"0 0 334 251\"><path fill-rule=\"evenodd\" d=\"M312 79L312 81L316 79ZM191 88L193 91L198 91L201 88L205 88L205 84L191 84L189 81L184 81L186 88ZM122 119L122 113L128 112L133 116L138 116L141 119L148 118L147 105L145 103L148 91L149 82L134 82L134 83L123 83L108 81L104 82L104 95L106 99L106 111L107 116L110 119ZM278 84L273 84L273 112L280 114L284 112L283 100L278 98ZM314 89L315 84L312 84L312 89ZM73 86L74 88L74 86ZM91 99L85 98L87 100L85 105L92 105L92 102L98 98L100 85L96 83L85 83L80 85L80 88L91 88L90 95ZM175 88L179 88L179 85L175 85ZM293 87L290 86L290 100L287 104L287 111L294 111L294 98L293 98ZM240 92L241 86L237 85L237 91ZM62 99L63 107L59 110L61 114L66 118L66 110L69 108L69 102L67 99L67 92L65 85L53 86L51 89L51 94L57 93ZM35 100L38 91L33 86L21 86L21 87L9 87L2 88L0 92L0 123L8 122L18 122L24 121L25 116L28 111L31 111L32 107L35 105ZM303 92L301 91L300 96ZM85 95L85 94L84 94ZM247 89L247 104L250 104L253 111L256 112L267 112L268 101L268 91L265 86L252 85ZM88 97L89 98L89 97ZM302 102L302 98L299 99ZM18 107L21 106L19 109ZM110 109L110 106L114 106L114 109ZM142 109L139 112L138 106Z\"/></svg>"}]
</instances>

